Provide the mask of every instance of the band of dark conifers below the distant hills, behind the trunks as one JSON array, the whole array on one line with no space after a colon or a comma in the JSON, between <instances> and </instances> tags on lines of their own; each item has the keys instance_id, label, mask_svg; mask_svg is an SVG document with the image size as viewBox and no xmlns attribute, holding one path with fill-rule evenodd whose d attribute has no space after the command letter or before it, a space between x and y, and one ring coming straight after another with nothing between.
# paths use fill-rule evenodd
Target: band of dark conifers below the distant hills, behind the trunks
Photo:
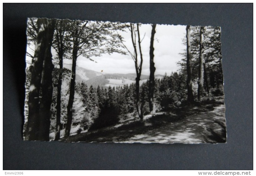
<instances>
[{"instance_id":1,"label":"band of dark conifers below the distant hills, behind the trunks","mask_svg":"<svg viewBox=\"0 0 256 176\"><path fill-rule=\"evenodd\" d=\"M57 75L57 68L53 75ZM66 71L62 81L61 129L66 126L66 106L69 96L70 71ZM55 78L53 76L53 78ZM156 111L167 111L182 106L186 100L184 75L174 72L166 74L162 79L155 79ZM29 82L30 74L27 74ZM54 79L54 83L57 80ZM29 89L28 84L26 88ZM149 114L148 81L140 86L140 105L143 105L144 115ZM51 132L55 132L56 124L57 87L53 89ZM80 127L84 130L94 130L131 118L138 118L135 108L135 84L105 87L88 86L85 82L76 82L72 128ZM27 113L27 111L25 111ZM79 130L79 128L78 128ZM77 132L77 131L75 131Z\"/></svg>"}]
</instances>

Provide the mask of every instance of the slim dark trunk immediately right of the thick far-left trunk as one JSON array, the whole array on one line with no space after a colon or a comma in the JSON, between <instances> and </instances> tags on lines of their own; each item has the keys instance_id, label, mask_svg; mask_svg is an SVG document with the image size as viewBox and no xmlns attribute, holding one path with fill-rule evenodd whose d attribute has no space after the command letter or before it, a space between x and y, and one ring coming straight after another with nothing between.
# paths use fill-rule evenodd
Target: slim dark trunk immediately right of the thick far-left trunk
<instances>
[{"instance_id":1,"label":"slim dark trunk immediately right of the thick far-left trunk","mask_svg":"<svg viewBox=\"0 0 256 176\"><path fill-rule=\"evenodd\" d=\"M61 128L61 86L62 86L62 69L63 69L63 54L59 54L59 65L60 72L58 78L58 86L57 86L57 113L56 113L56 132L55 132L55 141L60 139L60 128Z\"/></svg>"}]
</instances>

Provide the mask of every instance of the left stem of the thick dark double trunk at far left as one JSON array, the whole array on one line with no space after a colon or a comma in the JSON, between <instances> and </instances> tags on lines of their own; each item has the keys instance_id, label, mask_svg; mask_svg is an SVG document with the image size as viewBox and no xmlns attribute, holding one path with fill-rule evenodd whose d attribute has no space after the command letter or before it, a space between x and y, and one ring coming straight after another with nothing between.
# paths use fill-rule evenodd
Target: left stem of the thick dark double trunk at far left
<instances>
[{"instance_id":1,"label":"left stem of the thick dark double trunk at far left","mask_svg":"<svg viewBox=\"0 0 256 176\"><path fill-rule=\"evenodd\" d=\"M39 93L41 87L43 63L49 64L52 59L51 46L54 32L55 21L41 18L37 20L37 42L32 64L29 67L31 72L31 81L28 95L28 122L26 140L38 140L39 137ZM46 59L47 61L44 61ZM48 67L45 65L44 68ZM48 88L48 87L47 87ZM46 93L46 92L44 92ZM45 94L43 94L46 98ZM43 98L43 97L42 97ZM49 135L49 134L48 134Z\"/></svg>"}]
</instances>

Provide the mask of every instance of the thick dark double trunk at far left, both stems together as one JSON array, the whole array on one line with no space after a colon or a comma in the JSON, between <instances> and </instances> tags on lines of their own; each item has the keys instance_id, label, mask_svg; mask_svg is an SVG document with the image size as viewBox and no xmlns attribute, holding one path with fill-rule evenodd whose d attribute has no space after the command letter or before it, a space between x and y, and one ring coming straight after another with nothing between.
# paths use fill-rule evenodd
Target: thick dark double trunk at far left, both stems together
<instances>
[{"instance_id":1,"label":"thick dark double trunk at far left, both stems together","mask_svg":"<svg viewBox=\"0 0 256 176\"><path fill-rule=\"evenodd\" d=\"M43 120L43 118L49 119L50 116L48 116L48 113L50 111L51 106L51 87L50 83L52 81L51 76L49 76L47 72L52 69L52 53L51 53L51 46L52 46L52 38L53 38L53 32L55 27L55 20L48 20L45 18L41 18L37 20L37 41L35 46L35 54L34 58L32 59L32 64L29 67L29 70L31 72L31 81L30 81L30 87L29 87L29 95L28 95L28 122L27 122L27 130L25 134L26 140L48 140L48 137L42 137L42 133L40 132L40 129L42 126L47 124L47 120ZM48 65L49 64L49 65ZM44 66L43 66L44 65ZM43 69L46 69L43 71ZM44 79L42 80L43 86L46 89L50 88L50 90L45 91L45 89L42 89L42 103L40 102L39 106L39 93L40 93L40 87L41 87L41 79L42 79L42 71L46 76L44 76ZM51 74L52 72L50 72ZM47 76L48 75L48 76ZM49 80L50 79L50 80ZM51 85L52 86L52 85ZM48 93L50 93L50 96L48 96ZM49 103L49 105L46 105ZM46 105L46 106L44 106ZM47 111L46 113L42 114L42 116L39 116L39 109L43 107ZM40 111L41 112L41 111ZM47 117L46 117L47 116ZM45 124L40 124L45 123ZM47 125L46 125L47 127ZM49 129L44 129L49 130ZM39 138L40 137L40 138Z\"/></svg>"}]
</instances>

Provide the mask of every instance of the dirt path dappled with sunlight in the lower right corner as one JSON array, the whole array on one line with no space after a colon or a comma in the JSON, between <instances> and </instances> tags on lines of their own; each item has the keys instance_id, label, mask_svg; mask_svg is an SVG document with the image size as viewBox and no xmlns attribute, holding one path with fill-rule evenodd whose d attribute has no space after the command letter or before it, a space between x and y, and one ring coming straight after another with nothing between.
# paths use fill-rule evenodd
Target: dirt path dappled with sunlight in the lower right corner
<instances>
[{"instance_id":1,"label":"dirt path dappled with sunlight in the lower right corner","mask_svg":"<svg viewBox=\"0 0 256 176\"><path fill-rule=\"evenodd\" d=\"M225 106L221 104L213 111L194 114L179 122L169 123L145 134L135 135L118 142L159 142L159 143L204 143L224 142Z\"/></svg>"}]
</instances>

